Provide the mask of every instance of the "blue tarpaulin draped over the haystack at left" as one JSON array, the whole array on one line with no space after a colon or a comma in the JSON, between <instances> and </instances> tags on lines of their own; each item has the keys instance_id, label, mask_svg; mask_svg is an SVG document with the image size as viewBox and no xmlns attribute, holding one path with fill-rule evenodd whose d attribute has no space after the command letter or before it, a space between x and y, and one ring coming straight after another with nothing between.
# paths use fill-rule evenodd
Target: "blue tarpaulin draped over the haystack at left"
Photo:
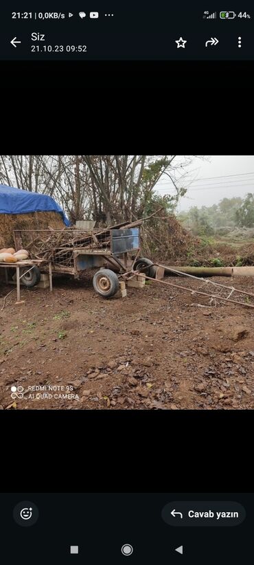
<instances>
[{"instance_id":1,"label":"blue tarpaulin draped over the haystack at left","mask_svg":"<svg viewBox=\"0 0 254 565\"><path fill-rule=\"evenodd\" d=\"M58 212L65 225L70 225L62 208L50 196L0 184L0 214L30 214L31 212Z\"/></svg>"}]
</instances>

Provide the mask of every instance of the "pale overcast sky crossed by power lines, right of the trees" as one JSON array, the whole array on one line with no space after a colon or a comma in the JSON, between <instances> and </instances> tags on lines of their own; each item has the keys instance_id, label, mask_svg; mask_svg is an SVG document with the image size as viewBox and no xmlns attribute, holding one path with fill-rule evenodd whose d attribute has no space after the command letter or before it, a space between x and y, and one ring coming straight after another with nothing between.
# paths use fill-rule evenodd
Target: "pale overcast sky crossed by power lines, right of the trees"
<instances>
[{"instance_id":1,"label":"pale overcast sky crossed by power lines, right of the trees","mask_svg":"<svg viewBox=\"0 0 254 565\"><path fill-rule=\"evenodd\" d=\"M187 195L181 199L178 212L192 206L212 206L222 198L244 197L247 192L254 192L254 155L209 155L208 159L196 158L187 167L187 178L183 182L183 186L188 187ZM174 193L168 177L157 184L157 191L161 195Z\"/></svg>"}]
</instances>

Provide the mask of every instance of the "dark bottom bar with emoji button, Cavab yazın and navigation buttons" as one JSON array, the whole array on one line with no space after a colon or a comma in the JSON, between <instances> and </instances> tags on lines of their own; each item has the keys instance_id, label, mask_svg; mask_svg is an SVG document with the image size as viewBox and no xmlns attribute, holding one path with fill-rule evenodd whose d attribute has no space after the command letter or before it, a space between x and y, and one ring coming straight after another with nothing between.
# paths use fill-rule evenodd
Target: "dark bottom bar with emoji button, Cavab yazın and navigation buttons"
<instances>
[{"instance_id":1,"label":"dark bottom bar with emoji button, Cavab yaz\u0131n and navigation buttons","mask_svg":"<svg viewBox=\"0 0 254 565\"><path fill-rule=\"evenodd\" d=\"M253 494L1 494L10 565L251 563Z\"/></svg>"}]
</instances>

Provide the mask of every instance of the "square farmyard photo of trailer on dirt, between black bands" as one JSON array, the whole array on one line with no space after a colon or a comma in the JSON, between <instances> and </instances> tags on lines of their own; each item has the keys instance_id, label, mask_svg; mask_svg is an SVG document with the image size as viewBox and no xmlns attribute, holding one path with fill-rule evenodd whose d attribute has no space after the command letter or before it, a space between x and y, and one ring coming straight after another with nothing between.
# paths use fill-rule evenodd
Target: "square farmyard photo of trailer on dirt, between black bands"
<instances>
[{"instance_id":1,"label":"square farmyard photo of trailer on dirt, between black bands","mask_svg":"<svg viewBox=\"0 0 254 565\"><path fill-rule=\"evenodd\" d=\"M0 409L254 408L253 155L0 155Z\"/></svg>"}]
</instances>

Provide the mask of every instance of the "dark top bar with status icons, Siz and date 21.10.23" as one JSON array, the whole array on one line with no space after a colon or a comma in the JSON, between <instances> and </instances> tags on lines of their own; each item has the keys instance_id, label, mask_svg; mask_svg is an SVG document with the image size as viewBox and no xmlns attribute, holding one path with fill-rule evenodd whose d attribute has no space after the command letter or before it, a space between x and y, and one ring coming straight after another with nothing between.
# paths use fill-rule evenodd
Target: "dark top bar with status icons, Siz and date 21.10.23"
<instances>
[{"instance_id":1,"label":"dark top bar with status icons, Siz and date 21.10.23","mask_svg":"<svg viewBox=\"0 0 254 565\"><path fill-rule=\"evenodd\" d=\"M0 58L83 63L253 60L253 17L250 1L226 7L203 1L13 2L1 8Z\"/></svg>"}]
</instances>

